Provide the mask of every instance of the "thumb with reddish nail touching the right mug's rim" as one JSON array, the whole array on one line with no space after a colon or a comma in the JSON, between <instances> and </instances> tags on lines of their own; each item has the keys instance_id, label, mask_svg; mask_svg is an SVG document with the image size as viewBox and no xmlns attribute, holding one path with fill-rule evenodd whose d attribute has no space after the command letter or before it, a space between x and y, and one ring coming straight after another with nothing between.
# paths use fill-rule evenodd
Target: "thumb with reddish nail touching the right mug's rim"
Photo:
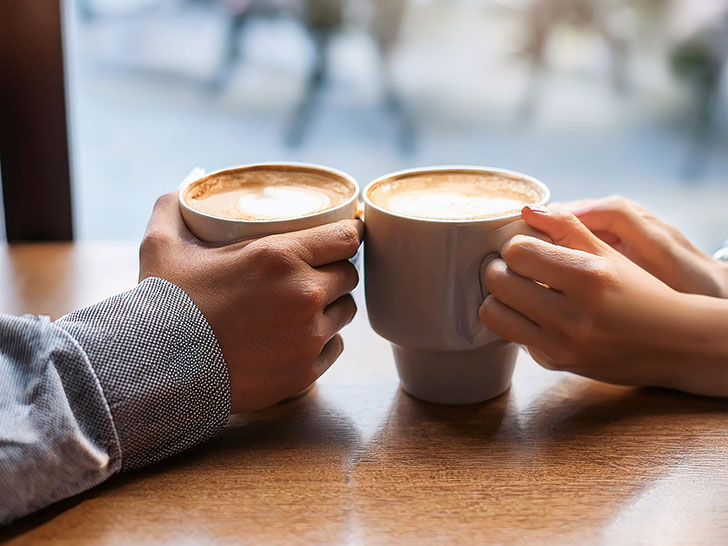
<instances>
[{"instance_id":1,"label":"thumb with reddish nail touching the right mug's rim","mask_svg":"<svg viewBox=\"0 0 728 546\"><path fill-rule=\"evenodd\" d=\"M605 243L570 212L526 206L521 214L529 226L548 235L554 244L592 254L601 254L604 249Z\"/></svg>"}]
</instances>

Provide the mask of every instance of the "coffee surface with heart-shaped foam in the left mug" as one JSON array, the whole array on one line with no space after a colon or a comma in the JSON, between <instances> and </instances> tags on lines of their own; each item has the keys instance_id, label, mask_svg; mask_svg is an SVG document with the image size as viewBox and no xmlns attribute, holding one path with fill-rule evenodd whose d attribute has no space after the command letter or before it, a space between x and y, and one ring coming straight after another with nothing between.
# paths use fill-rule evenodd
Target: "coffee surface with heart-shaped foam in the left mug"
<instances>
[{"instance_id":1,"label":"coffee surface with heart-shaped foam in the left mug","mask_svg":"<svg viewBox=\"0 0 728 546\"><path fill-rule=\"evenodd\" d=\"M355 192L344 181L303 169L241 169L193 183L184 199L193 209L231 220L300 218L337 207Z\"/></svg>"}]
</instances>

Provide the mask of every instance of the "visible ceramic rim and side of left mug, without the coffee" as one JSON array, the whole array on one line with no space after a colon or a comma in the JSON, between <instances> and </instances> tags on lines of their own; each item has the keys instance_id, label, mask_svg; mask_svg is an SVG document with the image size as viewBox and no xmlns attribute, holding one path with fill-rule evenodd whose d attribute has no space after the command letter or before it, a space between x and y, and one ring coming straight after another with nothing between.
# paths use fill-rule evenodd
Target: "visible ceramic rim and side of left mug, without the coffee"
<instances>
[{"instance_id":1,"label":"visible ceramic rim and side of left mug, without the coffee","mask_svg":"<svg viewBox=\"0 0 728 546\"><path fill-rule=\"evenodd\" d=\"M290 172L292 175L296 173L315 173L331 177L351 188L352 194L346 201L330 209L284 220L232 220L229 218L219 218L195 210L187 204L186 196L189 189L204 180L214 178L220 174L229 175L243 171L247 173L251 171L271 170ZM182 212L182 217L187 227L198 239L208 243L234 243L245 239L264 237L276 233L288 233L329 224L331 222L338 222L339 220L356 218L358 198L359 185L350 175L321 165L288 162L253 163L237 167L228 167L207 174L202 170L197 170L193 176L185 180L179 192L180 211Z\"/></svg>"}]
</instances>

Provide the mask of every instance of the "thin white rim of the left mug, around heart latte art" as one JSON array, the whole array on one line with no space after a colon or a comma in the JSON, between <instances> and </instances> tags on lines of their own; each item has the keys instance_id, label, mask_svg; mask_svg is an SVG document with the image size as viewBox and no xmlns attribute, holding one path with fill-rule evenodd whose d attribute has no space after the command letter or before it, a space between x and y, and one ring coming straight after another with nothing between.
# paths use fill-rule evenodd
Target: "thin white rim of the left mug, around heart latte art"
<instances>
[{"instance_id":1,"label":"thin white rim of the left mug, around heart latte art","mask_svg":"<svg viewBox=\"0 0 728 546\"><path fill-rule=\"evenodd\" d=\"M206 212L202 212L200 210L197 210L196 208L190 206L187 201L185 200L185 193L187 190L194 184L198 184L200 181L205 180L207 178L211 178L213 176L217 176L222 173L232 172L232 171L242 171L242 170L250 170L250 169L265 169L265 168L276 168L276 167L284 167L284 168L290 168L291 170L309 170L309 171L323 171L326 174L334 175L342 180L345 180L351 186L354 188L354 192L349 196L346 200L342 201L335 207L331 207L324 210L319 210L317 212L312 212L309 214L301 215L301 216L292 216L290 218L278 218L275 220L242 220L239 218L225 218L224 216L214 216L212 214L207 214ZM356 179L339 169L335 169L333 167L327 167L325 165L319 165L317 163L305 163L305 162L299 162L299 161L271 161L271 162L261 162L261 163L244 163L242 165L234 165L231 167L224 167L222 169L217 169L215 171L211 172L205 172L201 176L193 178L192 180L186 181L181 188L179 188L179 191L177 192L178 195L178 201L181 207L183 207L186 211L191 212L193 214L196 214L197 216L202 216L204 218L209 218L211 220L215 221L222 221L222 222L230 222L235 224L254 224L254 225L279 225L286 222L301 220L304 218L312 218L321 214L330 213L333 211L337 211L339 209L345 208L347 206L350 206L352 202L356 202L359 199L359 195L361 194L361 188L359 187L359 183L356 181Z\"/></svg>"}]
</instances>

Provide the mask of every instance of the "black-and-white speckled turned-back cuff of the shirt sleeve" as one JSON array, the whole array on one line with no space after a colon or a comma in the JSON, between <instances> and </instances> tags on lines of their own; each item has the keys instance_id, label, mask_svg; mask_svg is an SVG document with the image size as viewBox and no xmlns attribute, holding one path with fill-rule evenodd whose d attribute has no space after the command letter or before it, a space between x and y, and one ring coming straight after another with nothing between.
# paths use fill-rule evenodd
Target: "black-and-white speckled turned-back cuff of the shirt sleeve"
<instances>
[{"instance_id":1,"label":"black-and-white speckled turned-back cuff of the shirt sleeve","mask_svg":"<svg viewBox=\"0 0 728 546\"><path fill-rule=\"evenodd\" d=\"M217 338L176 285L136 288L58 320L88 355L119 436L122 469L151 464L209 438L230 414Z\"/></svg>"}]
</instances>

